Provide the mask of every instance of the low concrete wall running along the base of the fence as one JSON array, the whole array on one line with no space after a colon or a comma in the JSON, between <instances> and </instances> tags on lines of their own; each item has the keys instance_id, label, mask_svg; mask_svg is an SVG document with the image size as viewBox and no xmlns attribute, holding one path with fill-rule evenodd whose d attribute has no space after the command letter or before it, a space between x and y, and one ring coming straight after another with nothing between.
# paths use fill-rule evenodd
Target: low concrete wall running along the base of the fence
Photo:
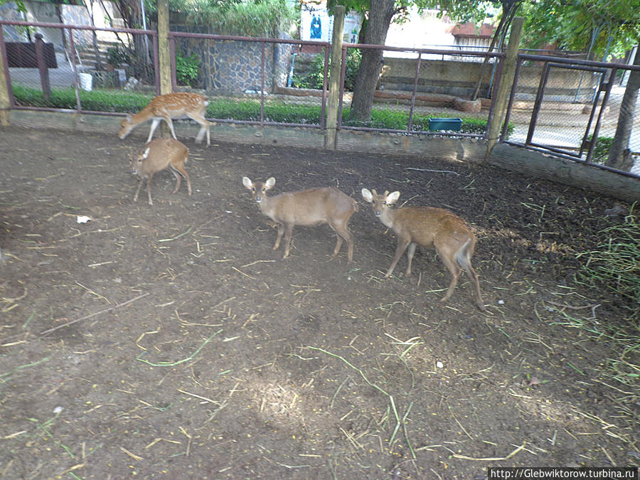
<instances>
[{"instance_id":1,"label":"low concrete wall running along the base of the fence","mask_svg":"<svg viewBox=\"0 0 640 480\"><path fill-rule=\"evenodd\" d=\"M26 128L53 128L79 130L82 132L105 132L117 140L118 116L70 114L58 112L36 112L12 110L10 124ZM148 135L148 124L132 132L136 142L144 142ZM193 139L199 126L176 122L178 137ZM0 127L0 134L3 134ZM240 124L212 124L212 141L242 142L245 144L267 144L297 148L324 149L324 132L321 129L292 128ZM358 152L410 155L417 157L437 156L449 161L481 163L484 161L486 142L474 139L452 139L449 137L389 134L378 132L338 132L338 150ZM624 201L640 198L640 181L622 176L595 166L574 161L550 159L535 151L515 146L498 144L491 153L489 164L516 171L520 174L538 176L556 183L586 188Z\"/></svg>"}]
</instances>

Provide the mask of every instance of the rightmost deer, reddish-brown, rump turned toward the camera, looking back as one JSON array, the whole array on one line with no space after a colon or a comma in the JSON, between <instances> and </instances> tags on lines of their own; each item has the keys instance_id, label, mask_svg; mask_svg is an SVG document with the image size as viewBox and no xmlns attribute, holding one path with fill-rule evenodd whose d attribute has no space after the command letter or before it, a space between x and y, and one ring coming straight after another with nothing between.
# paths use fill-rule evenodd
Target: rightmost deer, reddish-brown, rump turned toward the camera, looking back
<instances>
[{"instance_id":1,"label":"rightmost deer, reddish-brown, rump turned toward the camera, looking back","mask_svg":"<svg viewBox=\"0 0 640 480\"><path fill-rule=\"evenodd\" d=\"M434 247L453 277L447 294L442 297L441 302L447 302L452 296L458 283L458 277L464 270L474 283L478 308L481 311L486 311L480 294L478 274L471 266L471 257L474 255L476 247L476 236L462 218L444 208L426 206L390 208L400 198L399 191L393 193L385 191L380 195L375 190L369 191L367 188L363 188L362 196L365 201L371 203L374 215L380 218L383 225L398 235L398 247L395 249L395 256L385 278L390 277L393 273L395 265L398 264L398 260L407 246L409 247L407 250L407 272L405 273L407 277L411 275L411 261L416 246Z\"/></svg>"}]
</instances>

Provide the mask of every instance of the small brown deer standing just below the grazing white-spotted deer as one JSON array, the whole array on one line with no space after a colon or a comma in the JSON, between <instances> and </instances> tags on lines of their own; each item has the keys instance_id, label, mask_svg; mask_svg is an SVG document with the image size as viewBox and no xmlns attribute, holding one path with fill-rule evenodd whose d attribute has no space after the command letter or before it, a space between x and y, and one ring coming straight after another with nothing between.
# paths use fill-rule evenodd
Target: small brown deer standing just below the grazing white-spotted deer
<instances>
[{"instance_id":1,"label":"small brown deer standing just below the grazing white-spotted deer","mask_svg":"<svg viewBox=\"0 0 640 480\"><path fill-rule=\"evenodd\" d=\"M142 186L142 178L146 178L146 193L149 195L149 205L153 205L151 200L151 178L159 171L169 168L176 177L176 189L180 188L181 178L186 178L187 190L191 196L191 180L189 174L184 169L189 149L185 144L172 138L155 139L144 146L144 149L131 157L131 173L137 176L138 188L134 195L134 202L138 201L138 194Z\"/></svg>"}]
</instances>

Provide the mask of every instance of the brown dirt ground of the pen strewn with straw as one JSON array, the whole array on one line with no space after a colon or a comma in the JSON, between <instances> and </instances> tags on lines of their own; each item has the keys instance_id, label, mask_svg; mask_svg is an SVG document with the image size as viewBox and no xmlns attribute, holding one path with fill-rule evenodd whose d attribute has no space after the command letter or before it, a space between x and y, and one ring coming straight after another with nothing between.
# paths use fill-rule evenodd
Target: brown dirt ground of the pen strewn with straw
<instances>
[{"instance_id":1,"label":"brown dirt ground of the pen strewn with straw","mask_svg":"<svg viewBox=\"0 0 640 480\"><path fill-rule=\"evenodd\" d=\"M128 163L148 127L124 142L115 128L0 129L1 477L640 463L637 393L609 373L616 344L587 332L634 305L574 280L575 254L621 222L612 198L461 162L182 139L193 196L165 171L149 206ZM355 198L353 263L345 247L331 259L327 225L295 228L282 260L242 176ZM439 302L449 272L433 250L384 278L396 239L363 187L466 218L486 313L464 276Z\"/></svg>"}]
</instances>

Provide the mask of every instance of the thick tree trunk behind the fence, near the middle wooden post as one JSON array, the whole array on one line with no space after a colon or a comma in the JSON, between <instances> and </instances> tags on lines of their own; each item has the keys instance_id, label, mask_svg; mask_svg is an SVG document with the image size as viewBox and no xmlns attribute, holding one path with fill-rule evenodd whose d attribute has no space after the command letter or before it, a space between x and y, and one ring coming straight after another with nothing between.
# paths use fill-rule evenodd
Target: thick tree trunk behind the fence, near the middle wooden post
<instances>
[{"instance_id":1,"label":"thick tree trunk behind the fence, near the middle wooden post","mask_svg":"<svg viewBox=\"0 0 640 480\"><path fill-rule=\"evenodd\" d=\"M365 43L369 45L385 44L391 18L396 13L393 8L394 4L395 0L371 0ZM382 66L383 50L362 49L362 60L353 87L350 120L370 122L373 110L373 92L375 92L375 85L378 83Z\"/></svg>"}]
</instances>

